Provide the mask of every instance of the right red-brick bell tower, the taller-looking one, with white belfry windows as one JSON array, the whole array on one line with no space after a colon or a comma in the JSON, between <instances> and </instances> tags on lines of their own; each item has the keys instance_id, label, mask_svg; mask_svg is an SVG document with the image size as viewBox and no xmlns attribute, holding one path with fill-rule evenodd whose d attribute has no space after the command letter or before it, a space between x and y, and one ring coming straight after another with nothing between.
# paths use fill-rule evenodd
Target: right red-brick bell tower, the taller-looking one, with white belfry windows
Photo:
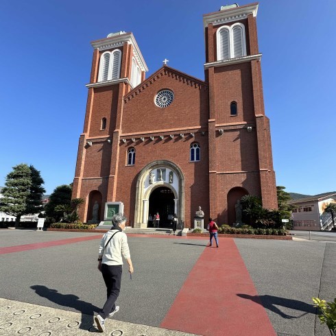
<instances>
[{"instance_id":1,"label":"right red-brick bell tower, the taller-looking one, with white belfry windows","mask_svg":"<svg viewBox=\"0 0 336 336\"><path fill-rule=\"evenodd\" d=\"M260 196L264 208L278 207L263 104L257 11L258 3L235 4L204 15L210 213L230 225L243 195Z\"/></svg>"}]
</instances>

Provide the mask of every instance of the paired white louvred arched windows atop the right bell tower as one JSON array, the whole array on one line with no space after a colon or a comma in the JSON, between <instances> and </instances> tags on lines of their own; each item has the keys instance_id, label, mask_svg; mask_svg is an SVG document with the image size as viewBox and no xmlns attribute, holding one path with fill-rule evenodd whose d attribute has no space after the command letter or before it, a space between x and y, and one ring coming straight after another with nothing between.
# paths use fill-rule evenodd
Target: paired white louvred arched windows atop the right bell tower
<instances>
[{"instance_id":1,"label":"paired white louvred arched windows atop the right bell tower","mask_svg":"<svg viewBox=\"0 0 336 336\"><path fill-rule=\"evenodd\" d=\"M246 56L245 26L235 23L217 29L217 60Z\"/></svg>"}]
</instances>

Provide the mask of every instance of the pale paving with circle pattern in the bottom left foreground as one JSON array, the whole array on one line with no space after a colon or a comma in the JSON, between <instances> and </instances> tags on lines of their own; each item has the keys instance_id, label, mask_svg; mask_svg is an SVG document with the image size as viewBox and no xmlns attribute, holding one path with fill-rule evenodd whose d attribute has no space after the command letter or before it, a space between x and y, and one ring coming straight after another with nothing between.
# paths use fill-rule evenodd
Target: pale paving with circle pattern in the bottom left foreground
<instances>
[{"instance_id":1,"label":"pale paving with circle pattern in the bottom left foreground","mask_svg":"<svg viewBox=\"0 0 336 336\"><path fill-rule=\"evenodd\" d=\"M0 298L0 335L89 335L99 333L93 316ZM106 320L108 336L195 336L143 324Z\"/></svg>"}]
</instances>

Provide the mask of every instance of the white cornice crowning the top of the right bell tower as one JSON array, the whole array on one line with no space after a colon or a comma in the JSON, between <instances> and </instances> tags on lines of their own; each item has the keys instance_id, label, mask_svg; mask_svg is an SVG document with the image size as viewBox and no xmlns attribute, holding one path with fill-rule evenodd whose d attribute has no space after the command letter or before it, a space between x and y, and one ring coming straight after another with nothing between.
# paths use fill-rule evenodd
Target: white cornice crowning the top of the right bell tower
<instances>
[{"instance_id":1,"label":"white cornice crowning the top of the right bell tower","mask_svg":"<svg viewBox=\"0 0 336 336\"><path fill-rule=\"evenodd\" d=\"M243 5L237 8L230 8L228 10L219 10L203 16L204 28L208 27L209 23L213 25L223 25L228 22L247 19L248 14L256 16L258 12L258 3L251 3L250 5Z\"/></svg>"}]
</instances>

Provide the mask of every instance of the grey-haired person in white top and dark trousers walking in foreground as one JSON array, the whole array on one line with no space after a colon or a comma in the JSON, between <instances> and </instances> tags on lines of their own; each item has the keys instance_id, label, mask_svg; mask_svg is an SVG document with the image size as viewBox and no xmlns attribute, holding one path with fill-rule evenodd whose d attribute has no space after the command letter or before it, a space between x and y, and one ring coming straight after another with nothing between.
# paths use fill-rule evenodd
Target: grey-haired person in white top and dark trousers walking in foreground
<instances>
[{"instance_id":1,"label":"grey-haired person in white top and dark trousers walking in foreground","mask_svg":"<svg viewBox=\"0 0 336 336\"><path fill-rule=\"evenodd\" d=\"M123 232L126 224L126 217L114 215L112 217L112 228L101 238L98 253L98 269L103 275L107 290L107 300L103 309L95 316L97 328L102 333L105 331L106 317L112 317L119 306L115 302L120 293L121 274L123 272L123 259L128 263L128 272L134 272L132 260L130 256L130 248L128 247L127 236Z\"/></svg>"}]
</instances>

